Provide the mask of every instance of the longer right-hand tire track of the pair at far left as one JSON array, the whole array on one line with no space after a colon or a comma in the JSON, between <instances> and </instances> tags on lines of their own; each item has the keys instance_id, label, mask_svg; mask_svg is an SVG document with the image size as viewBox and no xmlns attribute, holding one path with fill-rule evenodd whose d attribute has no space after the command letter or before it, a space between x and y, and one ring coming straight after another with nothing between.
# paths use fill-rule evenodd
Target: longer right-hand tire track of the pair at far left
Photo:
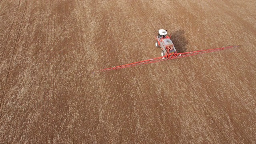
<instances>
[{"instance_id":1,"label":"longer right-hand tire track of the pair at far left","mask_svg":"<svg viewBox=\"0 0 256 144\"><path fill-rule=\"evenodd\" d=\"M26 9L27 9L27 3L28 3L28 0L26 0L26 3L25 3L25 8L24 8L24 12L23 12L23 15L22 15L22 20L20 22L20 27L19 27L19 30L18 30L18 35L17 35L16 41L15 41L15 45L14 45L14 48L13 48L13 51L12 51L12 58L11 58L11 61L10 61L10 64L9 64L8 73L7 73L7 76L6 76L6 79L5 79L5 83L4 83L4 87L3 87L3 93L2 93L1 101L0 101L0 118L2 118L2 116L3 116L2 102L5 100L5 96L4 96L5 87L6 87L7 80L8 80L9 74L10 74L10 68L12 66L12 60L13 60L13 57L14 57L14 53L15 53L15 49L16 49L16 46L17 46L18 38L19 38L19 35L20 35L20 29L21 29L22 22L24 20L24 15L25 15L25 12L26 12ZM20 1L19 1L19 5L20 5Z\"/></svg>"}]
</instances>

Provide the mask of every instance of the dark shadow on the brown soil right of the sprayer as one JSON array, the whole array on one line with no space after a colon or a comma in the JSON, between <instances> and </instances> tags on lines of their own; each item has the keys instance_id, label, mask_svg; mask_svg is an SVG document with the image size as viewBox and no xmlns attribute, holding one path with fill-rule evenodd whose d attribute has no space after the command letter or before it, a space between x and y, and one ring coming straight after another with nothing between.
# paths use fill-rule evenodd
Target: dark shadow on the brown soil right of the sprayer
<instances>
[{"instance_id":1,"label":"dark shadow on the brown soil right of the sprayer","mask_svg":"<svg viewBox=\"0 0 256 144\"><path fill-rule=\"evenodd\" d=\"M186 52L186 44L188 44L188 40L186 40L184 30L177 30L176 32L172 33L172 42L177 50L177 52Z\"/></svg>"}]
</instances>

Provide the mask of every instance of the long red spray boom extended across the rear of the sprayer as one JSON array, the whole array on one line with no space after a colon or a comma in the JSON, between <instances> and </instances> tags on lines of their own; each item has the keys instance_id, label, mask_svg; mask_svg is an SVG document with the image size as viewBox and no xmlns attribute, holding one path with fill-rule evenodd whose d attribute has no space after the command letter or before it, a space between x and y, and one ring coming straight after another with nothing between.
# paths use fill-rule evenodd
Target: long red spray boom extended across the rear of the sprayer
<instances>
[{"instance_id":1,"label":"long red spray boom extended across the rear of the sprayer","mask_svg":"<svg viewBox=\"0 0 256 144\"><path fill-rule=\"evenodd\" d=\"M117 69L121 69L121 68L128 68L128 67L132 67L132 66L137 66L137 65L140 65L140 64L150 64L150 63L160 62L160 61L164 61L164 60L184 58L184 57L187 57L187 56L194 56L194 55L197 55L197 54L204 54L204 53L208 53L208 52L216 52L216 51L220 51L220 50L226 50L226 49L237 48L237 47L239 47L239 46L226 46L226 47L222 47L222 48L214 48L214 49L208 49L208 50L198 50L198 51L194 51L194 52L182 52L182 53L176 53L176 54L169 54L167 56L161 56L161 57L158 57L158 58L152 58L152 59L143 60L143 61L140 61L140 62L124 64L124 65L121 65L121 66L112 66L111 68L104 68L104 69L98 70L96 72L105 72L105 71L109 71L109 70L117 70Z\"/></svg>"}]
</instances>

